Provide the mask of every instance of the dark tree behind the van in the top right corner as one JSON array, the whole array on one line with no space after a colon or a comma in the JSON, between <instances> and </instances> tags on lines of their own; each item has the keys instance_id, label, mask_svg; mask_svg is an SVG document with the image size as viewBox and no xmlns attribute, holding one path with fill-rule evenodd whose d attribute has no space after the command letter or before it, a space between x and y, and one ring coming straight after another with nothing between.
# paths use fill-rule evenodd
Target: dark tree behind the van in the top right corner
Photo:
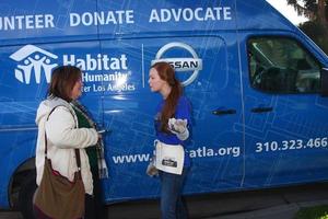
<instances>
[{"instance_id":1,"label":"dark tree behind the van in the top right corner","mask_svg":"<svg viewBox=\"0 0 328 219\"><path fill-rule=\"evenodd\" d=\"M328 0L286 1L288 4L294 7L298 15L304 15L309 20L300 24L300 28L328 54Z\"/></svg>"}]
</instances>

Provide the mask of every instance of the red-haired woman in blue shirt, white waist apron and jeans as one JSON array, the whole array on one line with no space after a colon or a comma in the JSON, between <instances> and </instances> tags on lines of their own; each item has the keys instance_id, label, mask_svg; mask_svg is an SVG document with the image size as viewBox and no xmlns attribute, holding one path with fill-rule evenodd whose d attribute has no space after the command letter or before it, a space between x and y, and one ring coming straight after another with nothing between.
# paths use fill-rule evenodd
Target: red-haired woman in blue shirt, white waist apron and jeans
<instances>
[{"instance_id":1,"label":"red-haired woman in blue shirt, white waist apron and jeans","mask_svg":"<svg viewBox=\"0 0 328 219\"><path fill-rule=\"evenodd\" d=\"M156 108L155 166L161 180L161 214L163 219L188 218L181 191L190 166L185 150L191 127L191 106L183 95L180 82L167 62L156 62L150 69L149 84L163 100Z\"/></svg>"}]
</instances>

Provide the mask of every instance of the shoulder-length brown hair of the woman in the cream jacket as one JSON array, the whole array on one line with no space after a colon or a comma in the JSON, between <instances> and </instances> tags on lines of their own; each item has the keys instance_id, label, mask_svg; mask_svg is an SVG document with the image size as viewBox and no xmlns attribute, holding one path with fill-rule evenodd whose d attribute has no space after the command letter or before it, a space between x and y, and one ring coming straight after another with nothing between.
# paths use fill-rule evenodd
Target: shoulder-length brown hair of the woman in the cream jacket
<instances>
[{"instance_id":1,"label":"shoulder-length brown hair of the woman in the cream jacket","mask_svg":"<svg viewBox=\"0 0 328 219\"><path fill-rule=\"evenodd\" d=\"M72 101L70 94L77 81L82 77L81 69L74 66L57 67L51 74L51 82L47 95L60 97L67 102Z\"/></svg>"}]
</instances>

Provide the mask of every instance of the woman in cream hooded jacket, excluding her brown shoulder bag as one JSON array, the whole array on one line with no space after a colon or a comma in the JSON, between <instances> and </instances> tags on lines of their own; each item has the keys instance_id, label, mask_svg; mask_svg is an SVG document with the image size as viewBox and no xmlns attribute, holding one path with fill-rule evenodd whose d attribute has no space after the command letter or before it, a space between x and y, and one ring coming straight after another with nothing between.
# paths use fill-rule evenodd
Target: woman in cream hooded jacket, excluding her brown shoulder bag
<instances>
[{"instance_id":1,"label":"woman in cream hooded jacket, excluding her brown shoulder bag","mask_svg":"<svg viewBox=\"0 0 328 219\"><path fill-rule=\"evenodd\" d=\"M75 101L82 93L82 72L77 67L61 66L52 71L47 99L39 104L36 115L38 126L36 183L40 185L43 178L46 147L46 154L51 161L52 170L73 182L78 171L75 158L75 149L78 149L85 191L83 218L97 218L98 209L95 209L94 191L99 188L94 185L98 178L94 176L97 174L92 170L97 164L93 160L97 159L95 148L102 137L83 108L77 105ZM37 218L51 218L36 206L34 208ZM68 212L60 214L62 218L68 217Z\"/></svg>"}]
</instances>

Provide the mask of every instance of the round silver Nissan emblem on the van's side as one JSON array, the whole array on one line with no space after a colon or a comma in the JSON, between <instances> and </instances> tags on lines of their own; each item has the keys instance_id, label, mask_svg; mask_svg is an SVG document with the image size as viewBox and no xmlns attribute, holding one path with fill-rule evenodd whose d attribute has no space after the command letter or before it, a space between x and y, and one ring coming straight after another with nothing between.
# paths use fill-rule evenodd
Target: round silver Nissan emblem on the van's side
<instances>
[{"instance_id":1,"label":"round silver Nissan emblem on the van's side","mask_svg":"<svg viewBox=\"0 0 328 219\"><path fill-rule=\"evenodd\" d=\"M187 50L192 57L183 57L183 58L163 58L164 54L168 51L169 49L174 48L181 48ZM179 42L174 42L164 45L156 54L156 57L154 60L152 60L152 65L160 62L160 61L165 61L168 62L176 72L179 71L189 71L191 72L190 77L187 78L187 80L181 81L183 85L188 85L190 84L198 76L199 71L202 69L202 60L198 58L195 49L184 43Z\"/></svg>"}]
</instances>

